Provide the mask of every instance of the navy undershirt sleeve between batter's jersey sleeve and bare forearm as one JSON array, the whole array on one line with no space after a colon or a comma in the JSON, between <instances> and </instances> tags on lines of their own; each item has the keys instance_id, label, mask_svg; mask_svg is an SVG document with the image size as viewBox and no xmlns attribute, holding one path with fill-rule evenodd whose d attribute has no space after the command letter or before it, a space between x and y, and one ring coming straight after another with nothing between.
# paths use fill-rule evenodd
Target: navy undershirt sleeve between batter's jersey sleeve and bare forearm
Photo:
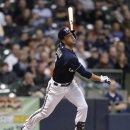
<instances>
[{"instance_id":1,"label":"navy undershirt sleeve between batter's jersey sleeve and bare forearm","mask_svg":"<svg viewBox=\"0 0 130 130\"><path fill-rule=\"evenodd\" d=\"M92 76L92 73L87 71L82 65L78 68L77 72L87 79L90 79Z\"/></svg>"}]
</instances>

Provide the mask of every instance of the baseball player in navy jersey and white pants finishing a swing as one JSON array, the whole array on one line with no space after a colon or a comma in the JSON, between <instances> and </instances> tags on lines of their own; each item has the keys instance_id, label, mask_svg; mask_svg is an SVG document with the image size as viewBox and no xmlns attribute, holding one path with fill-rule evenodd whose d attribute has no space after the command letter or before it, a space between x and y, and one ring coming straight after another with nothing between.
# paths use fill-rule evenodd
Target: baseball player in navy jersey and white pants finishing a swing
<instances>
[{"instance_id":1,"label":"baseball player in navy jersey and white pants finishing a swing","mask_svg":"<svg viewBox=\"0 0 130 130\"><path fill-rule=\"evenodd\" d=\"M77 71L80 75L93 81L108 84L111 82L107 76L97 76L87 71L79 63L73 52L73 46L76 43L74 30L64 27L59 31L58 38L61 45L56 52L54 74L48 82L44 104L26 120L21 130L32 130L37 122L45 119L53 112L64 96L77 107L75 130L84 130L88 105L74 80L75 72Z\"/></svg>"}]
</instances>

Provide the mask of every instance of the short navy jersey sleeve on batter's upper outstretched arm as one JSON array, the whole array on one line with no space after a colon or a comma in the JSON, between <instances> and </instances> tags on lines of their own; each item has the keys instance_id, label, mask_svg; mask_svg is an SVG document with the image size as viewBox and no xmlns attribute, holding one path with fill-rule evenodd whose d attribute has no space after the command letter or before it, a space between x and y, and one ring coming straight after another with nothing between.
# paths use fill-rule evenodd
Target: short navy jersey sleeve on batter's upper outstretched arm
<instances>
[{"instance_id":1,"label":"short navy jersey sleeve on batter's upper outstretched arm","mask_svg":"<svg viewBox=\"0 0 130 130\"><path fill-rule=\"evenodd\" d=\"M68 61L69 71L76 72L80 66L81 66L81 64L78 61L78 58L72 57L69 59L69 61Z\"/></svg>"}]
</instances>

